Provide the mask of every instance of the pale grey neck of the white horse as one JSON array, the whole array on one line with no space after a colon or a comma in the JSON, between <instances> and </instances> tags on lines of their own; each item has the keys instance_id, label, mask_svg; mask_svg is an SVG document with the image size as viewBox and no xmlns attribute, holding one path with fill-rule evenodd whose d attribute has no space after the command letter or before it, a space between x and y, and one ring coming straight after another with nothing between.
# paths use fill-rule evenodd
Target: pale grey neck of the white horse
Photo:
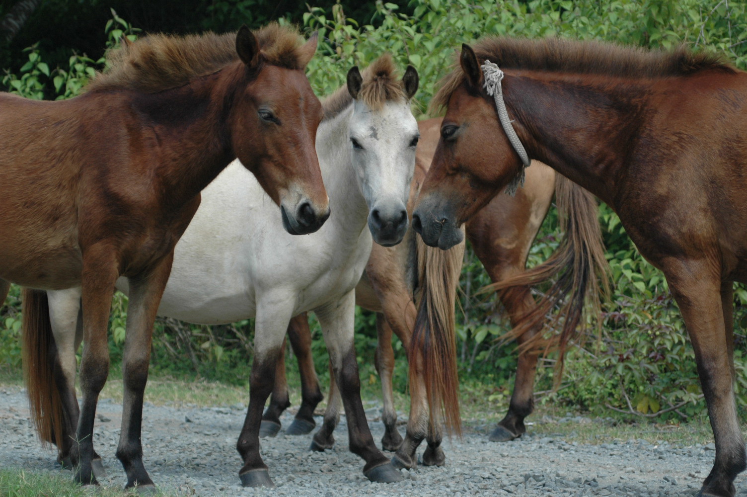
<instances>
[{"instance_id":1,"label":"pale grey neck of the white horse","mask_svg":"<svg viewBox=\"0 0 747 497\"><path fill-rule=\"evenodd\" d=\"M353 170L350 145L352 117L351 104L334 117L323 120L317 129L316 149L332 210L330 221L358 232L366 225L368 205Z\"/></svg>"}]
</instances>

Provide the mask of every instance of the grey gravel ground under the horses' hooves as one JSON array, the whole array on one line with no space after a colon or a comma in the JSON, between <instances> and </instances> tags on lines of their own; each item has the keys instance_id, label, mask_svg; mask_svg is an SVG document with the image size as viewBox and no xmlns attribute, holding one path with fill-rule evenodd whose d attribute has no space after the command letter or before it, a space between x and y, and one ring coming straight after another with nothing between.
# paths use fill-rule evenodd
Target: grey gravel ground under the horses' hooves
<instances>
[{"instance_id":1,"label":"grey gravel ground under the horses' hooves","mask_svg":"<svg viewBox=\"0 0 747 497\"><path fill-rule=\"evenodd\" d=\"M367 407L379 443L380 407ZM446 466L403 471L405 479L397 484L371 484L363 476L362 460L347 451L343 416L332 451L309 451L311 435L285 436L281 431L276 438L263 439L261 454L277 487L257 490L244 489L238 481L241 460L235 442L244 406L176 408L146 403L143 411L146 467L156 485L175 496L693 496L714 454L712 444L684 447L632 439L584 445L531 433L497 444L488 442L484 433L467 433L462 439L444 441ZM99 402L95 447L108 472L101 483L111 487L125 482L114 457L120 413L120 404ZM576 421L579 430L595 422ZM291 415L282 422L288 426ZM22 389L0 388L0 466L61 472L54 459L55 453L37 442ZM735 482L739 496L747 496L744 479L740 475Z\"/></svg>"}]
</instances>

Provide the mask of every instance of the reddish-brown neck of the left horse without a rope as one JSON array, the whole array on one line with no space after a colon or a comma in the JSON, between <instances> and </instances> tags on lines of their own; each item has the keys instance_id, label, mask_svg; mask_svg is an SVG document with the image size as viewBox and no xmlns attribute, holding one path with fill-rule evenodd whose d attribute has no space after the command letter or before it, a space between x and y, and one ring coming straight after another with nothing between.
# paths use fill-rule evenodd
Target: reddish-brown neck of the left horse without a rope
<instances>
[{"instance_id":1,"label":"reddish-brown neck of the left horse without a rope","mask_svg":"<svg viewBox=\"0 0 747 497\"><path fill-rule=\"evenodd\" d=\"M184 87L131 97L131 106L147 123L144 142L158 157L155 182L168 203L181 206L202 191L235 158L230 146L222 80L229 70L190 81Z\"/></svg>"}]
</instances>

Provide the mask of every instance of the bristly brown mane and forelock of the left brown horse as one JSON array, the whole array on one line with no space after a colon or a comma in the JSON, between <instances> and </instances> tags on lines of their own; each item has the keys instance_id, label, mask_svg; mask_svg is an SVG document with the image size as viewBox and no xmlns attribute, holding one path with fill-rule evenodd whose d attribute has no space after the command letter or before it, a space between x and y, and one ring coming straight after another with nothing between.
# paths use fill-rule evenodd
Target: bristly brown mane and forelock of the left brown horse
<instances>
[{"instance_id":1,"label":"bristly brown mane and forelock of the left brown horse","mask_svg":"<svg viewBox=\"0 0 747 497\"><path fill-rule=\"evenodd\" d=\"M288 69L303 69L297 49L303 38L296 28L272 22L257 31L264 62ZM85 90L136 90L158 93L184 86L191 79L223 69L238 60L236 33L171 36L150 34L134 42L123 41L106 54L108 67Z\"/></svg>"}]
</instances>

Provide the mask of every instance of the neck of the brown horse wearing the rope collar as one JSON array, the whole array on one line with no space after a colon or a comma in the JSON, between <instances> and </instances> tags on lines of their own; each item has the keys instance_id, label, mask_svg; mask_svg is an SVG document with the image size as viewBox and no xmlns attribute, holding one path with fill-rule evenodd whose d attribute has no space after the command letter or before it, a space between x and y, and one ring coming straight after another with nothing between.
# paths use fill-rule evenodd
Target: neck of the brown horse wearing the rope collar
<instances>
[{"instance_id":1,"label":"neck of the brown horse wearing the rope collar","mask_svg":"<svg viewBox=\"0 0 747 497\"><path fill-rule=\"evenodd\" d=\"M609 203L642 128L645 86L542 76L503 78L521 142L532 158Z\"/></svg>"}]
</instances>

